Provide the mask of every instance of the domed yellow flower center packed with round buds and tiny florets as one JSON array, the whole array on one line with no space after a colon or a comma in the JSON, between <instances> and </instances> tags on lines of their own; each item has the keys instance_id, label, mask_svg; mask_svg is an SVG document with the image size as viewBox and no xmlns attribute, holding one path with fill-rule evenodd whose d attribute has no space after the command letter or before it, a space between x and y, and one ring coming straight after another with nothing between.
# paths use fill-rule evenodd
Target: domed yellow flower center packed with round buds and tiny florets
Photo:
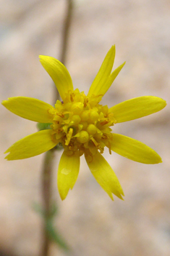
<instances>
[{"instance_id":1,"label":"domed yellow flower center packed with round buds and tiny florets","mask_svg":"<svg viewBox=\"0 0 170 256\"><path fill-rule=\"evenodd\" d=\"M102 95L85 96L75 89L68 92L64 101L56 101L55 108L48 112L53 117L53 139L61 143L68 155L83 153L93 156L105 146L110 149L112 134L110 126L116 124L107 105L98 104Z\"/></svg>"}]
</instances>

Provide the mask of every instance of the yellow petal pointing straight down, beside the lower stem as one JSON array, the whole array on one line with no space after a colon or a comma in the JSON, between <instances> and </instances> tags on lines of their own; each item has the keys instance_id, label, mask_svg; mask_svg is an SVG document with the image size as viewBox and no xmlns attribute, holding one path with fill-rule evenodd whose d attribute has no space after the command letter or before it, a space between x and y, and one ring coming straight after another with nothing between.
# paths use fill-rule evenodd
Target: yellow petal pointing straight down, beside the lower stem
<instances>
[{"instance_id":1,"label":"yellow petal pointing straight down, beside the lower stem","mask_svg":"<svg viewBox=\"0 0 170 256\"><path fill-rule=\"evenodd\" d=\"M80 169L80 156L72 154L68 156L64 151L59 161L59 169L57 174L57 185L61 199L64 200L73 188L78 177Z\"/></svg>"}]
</instances>

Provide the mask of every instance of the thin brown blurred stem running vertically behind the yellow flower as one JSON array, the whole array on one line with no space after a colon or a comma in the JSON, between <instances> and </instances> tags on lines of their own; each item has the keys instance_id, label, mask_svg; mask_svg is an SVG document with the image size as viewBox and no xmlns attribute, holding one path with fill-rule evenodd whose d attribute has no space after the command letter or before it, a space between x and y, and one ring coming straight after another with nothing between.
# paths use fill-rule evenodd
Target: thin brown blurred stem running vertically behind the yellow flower
<instances>
[{"instance_id":1,"label":"thin brown blurred stem running vertically behind the yellow flower","mask_svg":"<svg viewBox=\"0 0 170 256\"><path fill-rule=\"evenodd\" d=\"M62 39L61 39L60 60L61 60L61 63L63 64L65 64L65 60L66 60L71 18L72 18L72 0L67 0L67 12L64 20L64 29L63 29ZM56 88L55 88L54 95L55 95L54 103L56 103L56 100L59 100L59 92L58 91L56 92ZM43 209L46 214L46 218L48 218L49 215L51 214L51 176L52 176L52 169L53 169L53 159L54 159L54 150L51 149L51 151L46 152L46 155L43 161L43 170L42 170L42 197L43 197ZM41 256L49 255L49 247L50 247L50 239L46 231L46 223L44 223Z\"/></svg>"}]
</instances>

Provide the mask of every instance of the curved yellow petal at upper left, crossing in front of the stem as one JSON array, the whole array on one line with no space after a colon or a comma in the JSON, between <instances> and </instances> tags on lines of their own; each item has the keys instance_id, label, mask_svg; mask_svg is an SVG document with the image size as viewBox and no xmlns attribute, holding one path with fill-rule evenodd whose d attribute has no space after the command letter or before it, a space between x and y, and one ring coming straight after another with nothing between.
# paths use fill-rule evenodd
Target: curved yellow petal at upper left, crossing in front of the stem
<instances>
[{"instance_id":1,"label":"curved yellow petal at upper left, crossing in front of the stem","mask_svg":"<svg viewBox=\"0 0 170 256\"><path fill-rule=\"evenodd\" d=\"M72 79L69 75L67 68L54 57L40 55L40 61L43 65L43 68L46 69L48 74L53 79L56 88L59 91L61 99L64 100L65 94L69 91L73 91Z\"/></svg>"}]
</instances>

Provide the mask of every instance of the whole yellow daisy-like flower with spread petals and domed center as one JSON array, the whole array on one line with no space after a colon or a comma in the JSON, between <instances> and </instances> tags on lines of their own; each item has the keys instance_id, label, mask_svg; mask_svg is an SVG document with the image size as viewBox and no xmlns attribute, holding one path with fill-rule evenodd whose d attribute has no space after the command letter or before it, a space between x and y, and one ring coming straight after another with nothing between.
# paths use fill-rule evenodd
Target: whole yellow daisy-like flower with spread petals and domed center
<instances>
[{"instance_id":1,"label":"whole yellow daisy-like flower with spread petals and domed center","mask_svg":"<svg viewBox=\"0 0 170 256\"><path fill-rule=\"evenodd\" d=\"M101 155L104 148L121 156L144 164L157 164L161 157L130 137L112 133L116 123L138 119L161 111L166 106L159 97L143 96L108 108L99 104L124 63L111 73L114 65L115 47L107 53L88 95L73 88L67 68L53 57L40 56L41 64L56 84L62 102L55 106L29 97L11 97L2 104L22 118L41 123L51 123L51 129L35 132L14 143L5 153L8 160L26 159L54 148L58 143L64 147L57 183L61 199L73 188L80 169L80 156L85 155L88 167L95 180L113 200L112 193L122 199L122 187L114 171Z\"/></svg>"}]
</instances>

